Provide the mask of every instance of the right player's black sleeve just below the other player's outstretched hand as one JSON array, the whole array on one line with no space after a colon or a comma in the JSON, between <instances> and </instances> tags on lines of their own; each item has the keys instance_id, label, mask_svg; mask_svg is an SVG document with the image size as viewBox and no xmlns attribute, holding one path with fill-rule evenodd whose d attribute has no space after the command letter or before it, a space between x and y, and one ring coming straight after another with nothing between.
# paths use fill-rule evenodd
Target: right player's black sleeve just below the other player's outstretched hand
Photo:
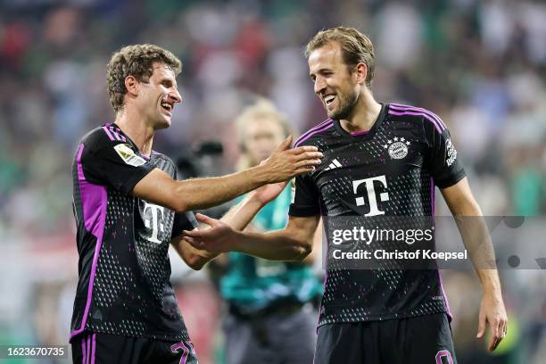
<instances>
[{"instance_id":1,"label":"right player's black sleeve just below the other player's outstretched hand","mask_svg":"<svg viewBox=\"0 0 546 364\"><path fill-rule=\"evenodd\" d=\"M293 179L292 203L288 214L294 217L309 217L320 213L319 194L310 173Z\"/></svg>"}]
</instances>

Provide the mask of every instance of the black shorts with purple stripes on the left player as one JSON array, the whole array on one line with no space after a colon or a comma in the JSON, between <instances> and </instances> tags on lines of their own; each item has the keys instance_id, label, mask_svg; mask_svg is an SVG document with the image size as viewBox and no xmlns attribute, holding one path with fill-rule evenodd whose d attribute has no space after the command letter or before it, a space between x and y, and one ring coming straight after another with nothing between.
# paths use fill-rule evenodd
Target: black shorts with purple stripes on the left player
<instances>
[{"instance_id":1,"label":"black shorts with purple stripes on the left player","mask_svg":"<svg viewBox=\"0 0 546 364\"><path fill-rule=\"evenodd\" d=\"M197 364L194 345L189 341L169 342L84 332L72 340L75 364Z\"/></svg>"}]
</instances>

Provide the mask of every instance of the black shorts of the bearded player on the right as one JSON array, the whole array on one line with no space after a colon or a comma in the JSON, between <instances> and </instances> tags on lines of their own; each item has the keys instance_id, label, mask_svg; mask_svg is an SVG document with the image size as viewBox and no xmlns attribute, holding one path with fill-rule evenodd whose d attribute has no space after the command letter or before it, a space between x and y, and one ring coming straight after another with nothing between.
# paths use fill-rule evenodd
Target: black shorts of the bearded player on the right
<instances>
[{"instance_id":1,"label":"black shorts of the bearded player on the right","mask_svg":"<svg viewBox=\"0 0 546 364\"><path fill-rule=\"evenodd\" d=\"M445 313L318 327L314 364L457 364Z\"/></svg>"}]
</instances>

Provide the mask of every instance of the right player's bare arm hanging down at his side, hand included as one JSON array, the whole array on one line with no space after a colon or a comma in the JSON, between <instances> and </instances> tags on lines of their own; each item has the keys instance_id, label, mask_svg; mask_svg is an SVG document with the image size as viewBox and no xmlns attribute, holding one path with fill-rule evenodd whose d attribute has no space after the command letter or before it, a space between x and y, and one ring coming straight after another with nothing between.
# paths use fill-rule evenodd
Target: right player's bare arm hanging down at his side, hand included
<instances>
[{"instance_id":1,"label":"right player's bare arm hanging down at his side, hand included","mask_svg":"<svg viewBox=\"0 0 546 364\"><path fill-rule=\"evenodd\" d=\"M463 243L482 284L483 297L476 337L484 336L486 322L489 323L491 340L488 349L492 352L506 335L508 317L502 302L501 281L496 269L491 236L482 211L468 186L467 178L461 179L453 186L443 188L442 194L457 220Z\"/></svg>"}]
</instances>

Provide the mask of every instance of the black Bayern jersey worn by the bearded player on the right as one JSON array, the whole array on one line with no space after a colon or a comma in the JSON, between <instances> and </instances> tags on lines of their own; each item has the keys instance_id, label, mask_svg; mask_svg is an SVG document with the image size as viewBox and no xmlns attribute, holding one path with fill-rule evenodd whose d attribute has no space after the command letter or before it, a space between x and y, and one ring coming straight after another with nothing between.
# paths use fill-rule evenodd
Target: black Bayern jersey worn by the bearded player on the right
<instances>
[{"instance_id":1,"label":"black Bayern jersey worn by the bearded player on the right","mask_svg":"<svg viewBox=\"0 0 546 364\"><path fill-rule=\"evenodd\" d=\"M315 171L295 178L289 213L320 214L327 229L336 224L346 229L347 221L367 227L380 218L396 228L387 218L434 216L434 186L452 186L465 177L443 121L407 105L384 104L367 132L350 133L339 120L325 120L295 145L315 145L324 158ZM331 240L328 235L328 252L335 248ZM327 264L318 325L443 311L450 314L436 269Z\"/></svg>"}]
</instances>

